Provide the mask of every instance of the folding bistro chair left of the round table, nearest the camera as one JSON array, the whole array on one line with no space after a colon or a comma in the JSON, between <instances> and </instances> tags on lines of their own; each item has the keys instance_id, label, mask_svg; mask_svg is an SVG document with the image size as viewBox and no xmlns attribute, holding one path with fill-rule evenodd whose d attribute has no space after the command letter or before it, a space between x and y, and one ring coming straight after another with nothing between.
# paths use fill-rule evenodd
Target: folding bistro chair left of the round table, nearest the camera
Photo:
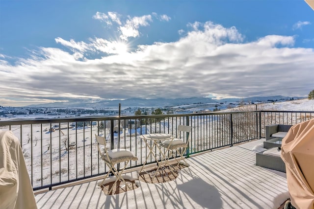
<instances>
[{"instance_id":1,"label":"folding bistro chair left of the round table, nearest the camera","mask_svg":"<svg viewBox=\"0 0 314 209\"><path fill-rule=\"evenodd\" d=\"M116 177L116 180L113 183L113 185L115 185L118 181L120 181L120 182L123 182L125 186L127 186L131 190L131 187L126 183L125 179L122 177L122 173L130 161L137 161L137 157L134 156L129 150L126 150L126 149L107 150L105 137L97 136L96 134L95 134L95 137L97 140L99 154L102 160L105 162L105 164L109 167L109 171L107 172L107 174L104 177L104 180L101 183L102 189L105 188L103 184L105 182L105 179L109 176L109 173L111 172ZM104 146L103 150L101 149L100 145ZM124 167L121 170L119 170L118 168L114 166L115 164L119 164L123 162L124 162ZM113 189L113 186L108 190L108 194L110 194L112 189Z\"/></svg>"}]
</instances>

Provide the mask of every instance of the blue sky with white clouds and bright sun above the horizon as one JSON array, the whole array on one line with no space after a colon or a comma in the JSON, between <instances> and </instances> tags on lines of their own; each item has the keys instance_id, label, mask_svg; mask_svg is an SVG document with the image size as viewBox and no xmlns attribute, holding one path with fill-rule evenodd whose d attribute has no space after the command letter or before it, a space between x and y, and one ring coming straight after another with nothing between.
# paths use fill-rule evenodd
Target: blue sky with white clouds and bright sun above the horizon
<instances>
[{"instance_id":1,"label":"blue sky with white clouds and bright sun above the horizon","mask_svg":"<svg viewBox=\"0 0 314 209\"><path fill-rule=\"evenodd\" d=\"M307 96L304 0L0 0L0 105Z\"/></svg>"}]
</instances>

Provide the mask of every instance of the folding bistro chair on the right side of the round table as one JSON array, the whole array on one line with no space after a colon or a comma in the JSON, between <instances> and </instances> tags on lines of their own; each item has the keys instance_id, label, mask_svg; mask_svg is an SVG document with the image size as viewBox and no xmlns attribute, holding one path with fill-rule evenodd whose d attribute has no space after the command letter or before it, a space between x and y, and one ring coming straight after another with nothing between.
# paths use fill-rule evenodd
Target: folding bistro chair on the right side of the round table
<instances>
[{"instance_id":1,"label":"folding bistro chair on the right side of the round table","mask_svg":"<svg viewBox=\"0 0 314 209\"><path fill-rule=\"evenodd\" d=\"M181 161L183 161L185 163L186 166L189 166L189 164L185 161L183 155L186 151L186 148L188 147L189 144L189 136L190 133L192 131L192 127L191 126L186 126L186 125L178 125L177 128L177 138L172 139L172 140L164 140L160 143L160 146L165 147L165 148L169 148L169 150L171 151L167 157L167 164L168 160L170 157L173 157L176 152L178 152L180 154L180 158L175 158L175 160L178 162L177 166L181 163ZM182 133L183 132L183 133ZM181 134L186 134L186 142L184 142L184 135ZM178 136L180 136L180 138L178 138ZM170 144L170 146L169 146Z\"/></svg>"}]
</instances>

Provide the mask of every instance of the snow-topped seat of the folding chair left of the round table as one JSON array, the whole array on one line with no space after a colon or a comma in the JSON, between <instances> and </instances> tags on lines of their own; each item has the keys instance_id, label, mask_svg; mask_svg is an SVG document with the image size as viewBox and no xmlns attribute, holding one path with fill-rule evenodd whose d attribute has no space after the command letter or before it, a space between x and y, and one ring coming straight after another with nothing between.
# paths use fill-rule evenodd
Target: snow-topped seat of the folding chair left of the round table
<instances>
[{"instance_id":1,"label":"snow-topped seat of the folding chair left of the round table","mask_svg":"<svg viewBox=\"0 0 314 209\"><path fill-rule=\"evenodd\" d=\"M125 161L137 161L138 158L126 149L112 149L108 151L111 163L121 163ZM106 155L102 156L103 160L107 161Z\"/></svg>"}]
</instances>

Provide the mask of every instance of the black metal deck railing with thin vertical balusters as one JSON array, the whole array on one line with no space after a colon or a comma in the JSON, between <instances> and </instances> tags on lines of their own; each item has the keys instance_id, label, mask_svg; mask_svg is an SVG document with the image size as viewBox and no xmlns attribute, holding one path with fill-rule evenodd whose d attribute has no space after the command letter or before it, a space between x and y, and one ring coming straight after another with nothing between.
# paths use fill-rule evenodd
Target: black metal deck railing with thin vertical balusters
<instances>
[{"instance_id":1,"label":"black metal deck railing with thin vertical balusters","mask_svg":"<svg viewBox=\"0 0 314 209\"><path fill-rule=\"evenodd\" d=\"M128 168L141 166L148 148L138 137L148 133L177 136L178 125L192 126L188 157L265 136L269 124L291 124L314 118L314 112L248 111L181 115L112 116L0 121L20 140L34 190L52 188L108 172L100 159L95 134L109 148L125 148L138 157ZM177 136L183 139L186 136ZM148 163L156 163L150 158Z\"/></svg>"}]
</instances>

